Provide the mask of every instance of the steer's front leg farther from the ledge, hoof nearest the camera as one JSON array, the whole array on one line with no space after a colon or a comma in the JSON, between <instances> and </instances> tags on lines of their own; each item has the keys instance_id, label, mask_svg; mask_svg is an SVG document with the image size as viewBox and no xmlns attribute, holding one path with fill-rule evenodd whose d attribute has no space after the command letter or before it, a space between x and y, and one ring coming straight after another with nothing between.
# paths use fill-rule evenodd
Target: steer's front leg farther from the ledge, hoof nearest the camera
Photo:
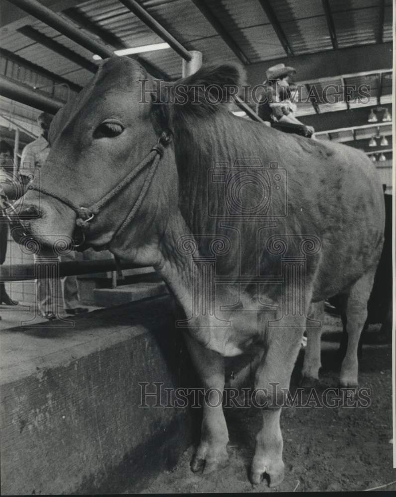
<instances>
[{"instance_id":1,"label":"steer's front leg farther from the ledge, hoof nearest the camera","mask_svg":"<svg viewBox=\"0 0 396 497\"><path fill-rule=\"evenodd\" d=\"M279 485L284 477L283 440L279 424L284 393L300 349L304 326L271 327L266 333L265 354L257 368L255 391L257 405L262 408L263 427L256 436L256 450L251 465L250 480L258 484L263 474L269 476L270 487Z\"/></svg>"}]
</instances>

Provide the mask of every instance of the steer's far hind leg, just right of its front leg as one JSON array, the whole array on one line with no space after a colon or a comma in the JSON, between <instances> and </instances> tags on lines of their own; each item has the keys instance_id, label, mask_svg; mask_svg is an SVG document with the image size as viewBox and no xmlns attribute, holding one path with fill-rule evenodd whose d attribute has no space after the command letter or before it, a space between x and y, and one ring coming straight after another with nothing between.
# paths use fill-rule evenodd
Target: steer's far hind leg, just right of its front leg
<instances>
[{"instance_id":1,"label":"steer's far hind leg, just right of its front leg","mask_svg":"<svg viewBox=\"0 0 396 497\"><path fill-rule=\"evenodd\" d=\"M324 315L324 301L311 303L308 317L319 321L319 326L307 327L307 346L304 354L303 364L303 387L311 387L319 379L320 362L320 337L322 334L321 325Z\"/></svg>"}]
</instances>

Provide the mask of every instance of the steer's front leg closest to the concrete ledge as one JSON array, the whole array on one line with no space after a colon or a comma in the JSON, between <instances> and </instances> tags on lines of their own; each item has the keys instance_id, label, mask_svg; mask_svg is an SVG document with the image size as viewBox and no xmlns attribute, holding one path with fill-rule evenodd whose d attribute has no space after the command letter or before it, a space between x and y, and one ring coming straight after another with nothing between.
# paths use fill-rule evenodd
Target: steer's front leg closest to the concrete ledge
<instances>
[{"instance_id":1,"label":"steer's front leg closest to the concrete ledge","mask_svg":"<svg viewBox=\"0 0 396 497\"><path fill-rule=\"evenodd\" d=\"M224 466L228 460L228 430L219 392L223 394L225 384L224 358L217 352L204 348L184 333L193 364L202 381L205 396L201 426L201 441L191 461L191 469L211 473ZM214 406L214 407L212 407Z\"/></svg>"}]
</instances>

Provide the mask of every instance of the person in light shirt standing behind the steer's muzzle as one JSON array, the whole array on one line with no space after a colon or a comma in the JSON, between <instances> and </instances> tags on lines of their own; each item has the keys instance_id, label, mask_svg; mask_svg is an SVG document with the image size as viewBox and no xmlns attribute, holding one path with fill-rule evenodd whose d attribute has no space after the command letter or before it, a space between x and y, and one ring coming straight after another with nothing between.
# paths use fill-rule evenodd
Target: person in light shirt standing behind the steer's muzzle
<instances>
[{"instance_id":1,"label":"person in light shirt standing behind the steer's muzzle","mask_svg":"<svg viewBox=\"0 0 396 497\"><path fill-rule=\"evenodd\" d=\"M21 166L26 169L29 167L40 168L47 160L50 152L50 144L48 143L48 131L52 116L43 112L39 115L37 122L41 128L41 135L33 142L26 145L22 151ZM52 253L51 253L52 254ZM41 252L35 256L35 262L40 262L45 258L45 253ZM61 255L62 262L73 261L76 259L75 253ZM49 320L55 319L56 313L53 308L52 286L56 282L49 278L37 279L36 298L37 298L37 313L39 316L44 316ZM77 276L66 276L61 278L63 307L67 314L77 315L88 312L88 309L80 306L79 302L79 286Z\"/></svg>"}]
</instances>

